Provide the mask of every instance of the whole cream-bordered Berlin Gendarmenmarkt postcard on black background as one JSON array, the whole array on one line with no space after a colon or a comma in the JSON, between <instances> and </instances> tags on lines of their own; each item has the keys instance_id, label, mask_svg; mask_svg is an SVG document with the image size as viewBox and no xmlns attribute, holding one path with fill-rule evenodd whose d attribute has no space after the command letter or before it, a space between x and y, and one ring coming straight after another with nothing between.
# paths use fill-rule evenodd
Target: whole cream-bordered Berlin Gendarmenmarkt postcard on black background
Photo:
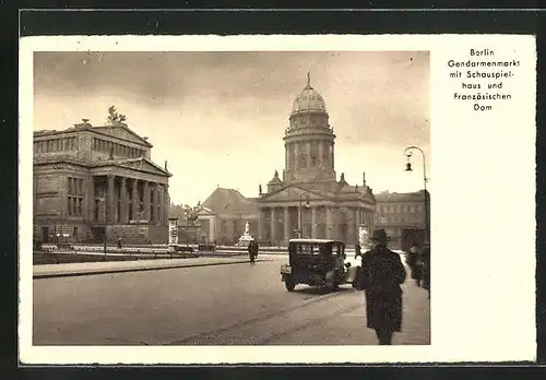
<instances>
[{"instance_id":1,"label":"whole cream-bordered Berlin Gendarmenmarkt postcard on black background","mask_svg":"<svg viewBox=\"0 0 546 380\"><path fill-rule=\"evenodd\" d=\"M23 364L535 359L533 36L20 58Z\"/></svg>"}]
</instances>

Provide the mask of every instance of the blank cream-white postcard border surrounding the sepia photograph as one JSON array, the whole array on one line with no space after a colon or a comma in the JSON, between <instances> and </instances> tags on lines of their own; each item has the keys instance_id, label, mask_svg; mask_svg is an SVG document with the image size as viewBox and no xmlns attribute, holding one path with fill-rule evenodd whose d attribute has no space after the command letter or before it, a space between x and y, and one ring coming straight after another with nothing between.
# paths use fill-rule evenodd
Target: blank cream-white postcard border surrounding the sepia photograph
<instances>
[{"instance_id":1,"label":"blank cream-white postcard border surrounding the sepia photograph","mask_svg":"<svg viewBox=\"0 0 546 380\"><path fill-rule=\"evenodd\" d=\"M483 115L450 111L446 61L458 50L489 46L521 52L519 133L510 133L506 115L499 123ZM34 51L249 51L249 50L430 50L432 301L429 346L33 346L32 135ZM454 57L458 58L458 57ZM503 361L535 358L535 39L518 35L373 35L373 36L51 36L21 39L20 52L20 359L25 364L298 364ZM530 68L533 70L530 71ZM515 92L515 90L514 90ZM515 102L515 100L514 100ZM521 102L521 100L520 100ZM456 114L456 115L454 115ZM456 116L456 117L454 117ZM507 128L505 128L507 127ZM449 133L447 132L449 131ZM495 132L495 133L494 133ZM446 135L449 134L447 138ZM470 143L483 139L482 147ZM450 147L454 144L459 147ZM478 151L480 150L480 151ZM456 154L456 155L454 155ZM491 159L491 171L507 168L506 187L475 173ZM403 165L401 155L401 166ZM497 167L492 167L496 165ZM480 166L480 165L477 165ZM515 169L508 169L513 166ZM482 166L480 166L482 167ZM485 166L484 166L485 167ZM470 182L461 182L465 171ZM176 174L175 174L176 175ZM518 181L518 183L513 183ZM474 187L474 191L468 190ZM517 188L517 189L515 189ZM487 191L489 190L489 191ZM476 197L482 197L476 199ZM517 199L513 197L517 195ZM497 205L497 207L496 207ZM497 210L499 209L499 210ZM486 210L488 215L478 211ZM508 212L507 212L508 210ZM507 218L507 215L512 215ZM463 217L466 216L466 219ZM515 221L513 218L517 218ZM471 222L470 222L471 221ZM471 224L471 226L468 226ZM453 241L453 230L461 235ZM468 228L470 227L470 228ZM474 228L476 227L476 228ZM501 242L485 244L480 236ZM514 252L514 249L518 249ZM514 258L515 254L515 258ZM441 258L441 259L439 259ZM456 263L460 260L461 264ZM515 266L514 266L514 260ZM462 273L461 266L465 268ZM464 263L464 264L463 264ZM492 263L492 264L491 264ZM475 266L478 266L477 270ZM448 278L448 280L446 280ZM517 282L517 284L513 284ZM512 290L511 286L515 286ZM488 309L473 296L488 292ZM500 292L503 292L501 294ZM465 298L465 301L461 301ZM500 313L503 310L505 314ZM508 307L518 306L518 310ZM366 329L363 314L363 329Z\"/></svg>"}]
</instances>

